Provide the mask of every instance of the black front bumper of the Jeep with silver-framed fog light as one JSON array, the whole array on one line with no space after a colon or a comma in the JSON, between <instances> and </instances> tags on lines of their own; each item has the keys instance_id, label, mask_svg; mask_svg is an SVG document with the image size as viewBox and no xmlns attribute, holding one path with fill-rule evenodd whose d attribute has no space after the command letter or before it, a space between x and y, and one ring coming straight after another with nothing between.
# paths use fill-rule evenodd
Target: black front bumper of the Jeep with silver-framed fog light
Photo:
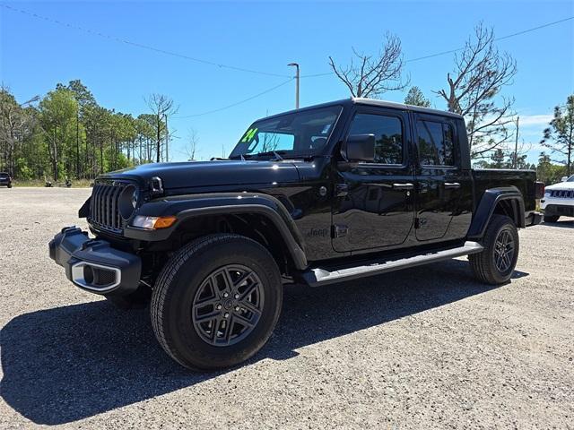
<instances>
[{"instance_id":1,"label":"black front bumper of the Jeep with silver-framed fog light","mask_svg":"<svg viewBox=\"0 0 574 430\"><path fill-rule=\"evenodd\" d=\"M50 241L49 255L65 269L65 277L91 293L125 296L139 286L142 261L113 248L109 242L90 239L77 227L63 228Z\"/></svg>"}]
</instances>

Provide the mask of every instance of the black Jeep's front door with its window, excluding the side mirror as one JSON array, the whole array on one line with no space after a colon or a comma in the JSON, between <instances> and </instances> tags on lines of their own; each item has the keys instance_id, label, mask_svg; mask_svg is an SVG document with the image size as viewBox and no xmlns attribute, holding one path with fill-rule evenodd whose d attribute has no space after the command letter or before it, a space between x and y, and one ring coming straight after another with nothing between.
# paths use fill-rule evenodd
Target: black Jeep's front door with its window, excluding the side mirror
<instances>
[{"instance_id":1,"label":"black Jeep's front door with its window, excluding the side mirror","mask_svg":"<svg viewBox=\"0 0 574 430\"><path fill-rule=\"evenodd\" d=\"M346 136L352 134L375 135L375 159L342 164L338 169L333 247L337 252L349 252L400 245L414 219L408 115L360 107Z\"/></svg>"}]
</instances>

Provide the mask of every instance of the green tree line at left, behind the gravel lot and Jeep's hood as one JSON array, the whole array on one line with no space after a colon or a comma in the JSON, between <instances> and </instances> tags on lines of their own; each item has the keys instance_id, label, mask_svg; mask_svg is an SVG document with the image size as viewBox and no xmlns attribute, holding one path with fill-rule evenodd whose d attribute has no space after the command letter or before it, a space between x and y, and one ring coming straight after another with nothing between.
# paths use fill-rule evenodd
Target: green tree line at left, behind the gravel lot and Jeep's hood
<instances>
[{"instance_id":1,"label":"green tree line at left, behind the gravel lot and Jeep's hood","mask_svg":"<svg viewBox=\"0 0 574 430\"><path fill-rule=\"evenodd\" d=\"M152 94L137 117L98 104L81 81L19 103L0 87L0 171L16 179L92 179L168 159L173 101Z\"/></svg>"}]
</instances>

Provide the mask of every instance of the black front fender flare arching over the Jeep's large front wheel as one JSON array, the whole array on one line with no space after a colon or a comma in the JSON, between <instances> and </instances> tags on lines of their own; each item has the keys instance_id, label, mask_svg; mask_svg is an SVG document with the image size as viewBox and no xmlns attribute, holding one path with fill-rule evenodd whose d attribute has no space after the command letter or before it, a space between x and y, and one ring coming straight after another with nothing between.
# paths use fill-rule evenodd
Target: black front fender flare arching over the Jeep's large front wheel
<instances>
[{"instance_id":1,"label":"black front fender flare arching over the Jeep's large front wheel","mask_svg":"<svg viewBox=\"0 0 574 430\"><path fill-rule=\"evenodd\" d=\"M176 216L178 220L170 228L144 230L128 226L126 237L157 242L167 240L178 227L189 219L205 215L258 214L268 219L281 234L287 252L299 270L308 266L304 241L299 228L282 202L265 193L208 193L187 194L156 199L144 203L135 215L152 217Z\"/></svg>"}]
</instances>

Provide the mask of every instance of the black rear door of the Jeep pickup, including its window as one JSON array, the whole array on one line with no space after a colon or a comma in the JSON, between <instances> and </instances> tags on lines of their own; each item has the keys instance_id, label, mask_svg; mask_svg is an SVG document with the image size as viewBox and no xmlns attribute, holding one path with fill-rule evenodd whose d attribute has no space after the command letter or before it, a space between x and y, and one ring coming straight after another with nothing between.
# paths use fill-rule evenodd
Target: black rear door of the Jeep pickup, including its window
<instances>
[{"instance_id":1,"label":"black rear door of the Jeep pickup, including its window","mask_svg":"<svg viewBox=\"0 0 574 430\"><path fill-rule=\"evenodd\" d=\"M413 114L418 166L416 182L416 233L419 241L464 237L473 184L470 169L462 164L461 136L455 119Z\"/></svg>"}]
</instances>

